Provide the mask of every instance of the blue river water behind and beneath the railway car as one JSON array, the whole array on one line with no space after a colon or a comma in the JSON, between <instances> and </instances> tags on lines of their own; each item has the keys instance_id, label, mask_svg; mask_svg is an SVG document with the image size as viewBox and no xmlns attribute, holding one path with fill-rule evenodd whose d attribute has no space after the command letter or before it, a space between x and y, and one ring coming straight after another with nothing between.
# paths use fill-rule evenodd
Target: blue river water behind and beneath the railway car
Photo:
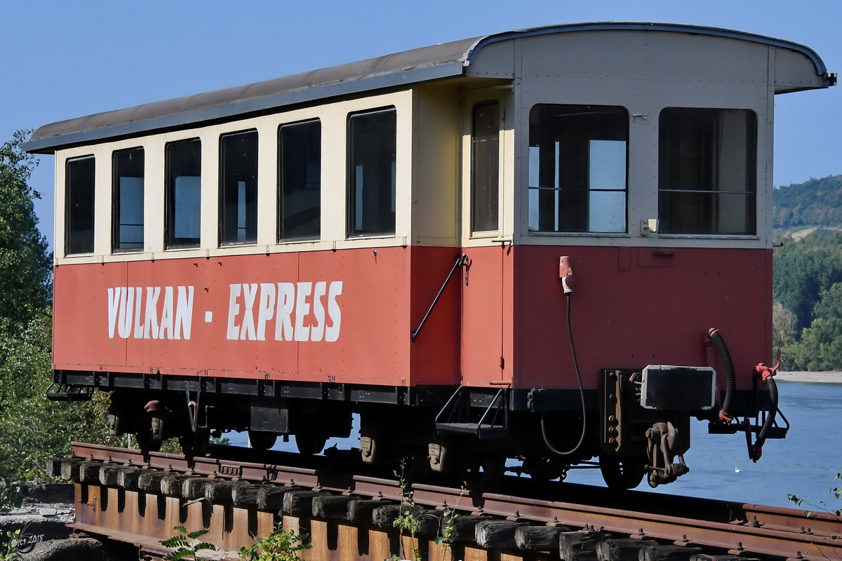
<instances>
[{"instance_id":1,"label":"blue river water behind and beneath the railway car","mask_svg":"<svg viewBox=\"0 0 842 561\"><path fill-rule=\"evenodd\" d=\"M795 507L787 499L787 494L792 493L816 505L823 500L839 508L839 500L829 490L842 486L842 481L834 481L836 474L842 472L842 384L781 381L778 388L780 409L791 429L786 439L766 442L758 463L749 460L743 434L709 435L707 423L694 420L692 446L685 454L690 473L655 490L649 489L644 479L637 489ZM352 437L331 439L327 447L359 447L358 430L355 418ZM245 433L226 436L233 446L248 446ZM295 437L290 437L290 442L279 439L274 450L296 452ZM567 480L605 485L599 469L572 469Z\"/></svg>"}]
</instances>

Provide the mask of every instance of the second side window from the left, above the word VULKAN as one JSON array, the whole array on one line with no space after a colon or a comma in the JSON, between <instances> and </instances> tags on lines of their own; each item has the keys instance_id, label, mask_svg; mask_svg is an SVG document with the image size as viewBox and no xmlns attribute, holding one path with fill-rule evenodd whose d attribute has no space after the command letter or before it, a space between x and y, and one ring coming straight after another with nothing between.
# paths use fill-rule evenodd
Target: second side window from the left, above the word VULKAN
<instances>
[{"instance_id":1,"label":"second side window from the left, above the word VULKAN","mask_svg":"<svg viewBox=\"0 0 842 561\"><path fill-rule=\"evenodd\" d=\"M143 249L143 149L115 151L113 161L112 247Z\"/></svg>"}]
</instances>

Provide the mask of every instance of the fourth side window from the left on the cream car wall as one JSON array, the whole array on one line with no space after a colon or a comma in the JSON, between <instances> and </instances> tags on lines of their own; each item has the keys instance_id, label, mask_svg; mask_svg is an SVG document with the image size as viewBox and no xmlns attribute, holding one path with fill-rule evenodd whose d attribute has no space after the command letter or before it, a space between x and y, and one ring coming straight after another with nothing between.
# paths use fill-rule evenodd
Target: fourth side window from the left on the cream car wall
<instances>
[{"instance_id":1,"label":"fourth side window from the left on the cream car wall","mask_svg":"<svg viewBox=\"0 0 842 561\"><path fill-rule=\"evenodd\" d=\"M258 131L220 138L219 243L258 241Z\"/></svg>"}]
</instances>

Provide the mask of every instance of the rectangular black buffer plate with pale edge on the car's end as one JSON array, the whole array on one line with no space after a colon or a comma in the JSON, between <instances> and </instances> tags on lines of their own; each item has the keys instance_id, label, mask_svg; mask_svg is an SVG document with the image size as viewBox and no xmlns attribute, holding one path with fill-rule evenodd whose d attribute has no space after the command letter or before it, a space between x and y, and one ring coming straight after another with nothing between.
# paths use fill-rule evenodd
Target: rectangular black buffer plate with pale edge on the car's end
<instances>
[{"instance_id":1,"label":"rectangular black buffer plate with pale edge on the car's end","mask_svg":"<svg viewBox=\"0 0 842 561\"><path fill-rule=\"evenodd\" d=\"M713 368L650 364L643 368L640 405L658 410L708 410L717 402L716 388Z\"/></svg>"}]
</instances>

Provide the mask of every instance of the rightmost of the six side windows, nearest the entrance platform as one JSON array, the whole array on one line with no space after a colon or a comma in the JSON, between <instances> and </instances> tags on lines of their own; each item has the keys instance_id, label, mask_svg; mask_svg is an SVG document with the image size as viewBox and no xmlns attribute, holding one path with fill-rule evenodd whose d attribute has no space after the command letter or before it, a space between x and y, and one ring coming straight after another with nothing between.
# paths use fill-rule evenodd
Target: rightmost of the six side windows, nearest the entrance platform
<instances>
[{"instance_id":1,"label":"rightmost of the six side windows, nearest the entrance platform","mask_svg":"<svg viewBox=\"0 0 842 561\"><path fill-rule=\"evenodd\" d=\"M395 233L397 112L348 119L348 235Z\"/></svg>"}]
</instances>

